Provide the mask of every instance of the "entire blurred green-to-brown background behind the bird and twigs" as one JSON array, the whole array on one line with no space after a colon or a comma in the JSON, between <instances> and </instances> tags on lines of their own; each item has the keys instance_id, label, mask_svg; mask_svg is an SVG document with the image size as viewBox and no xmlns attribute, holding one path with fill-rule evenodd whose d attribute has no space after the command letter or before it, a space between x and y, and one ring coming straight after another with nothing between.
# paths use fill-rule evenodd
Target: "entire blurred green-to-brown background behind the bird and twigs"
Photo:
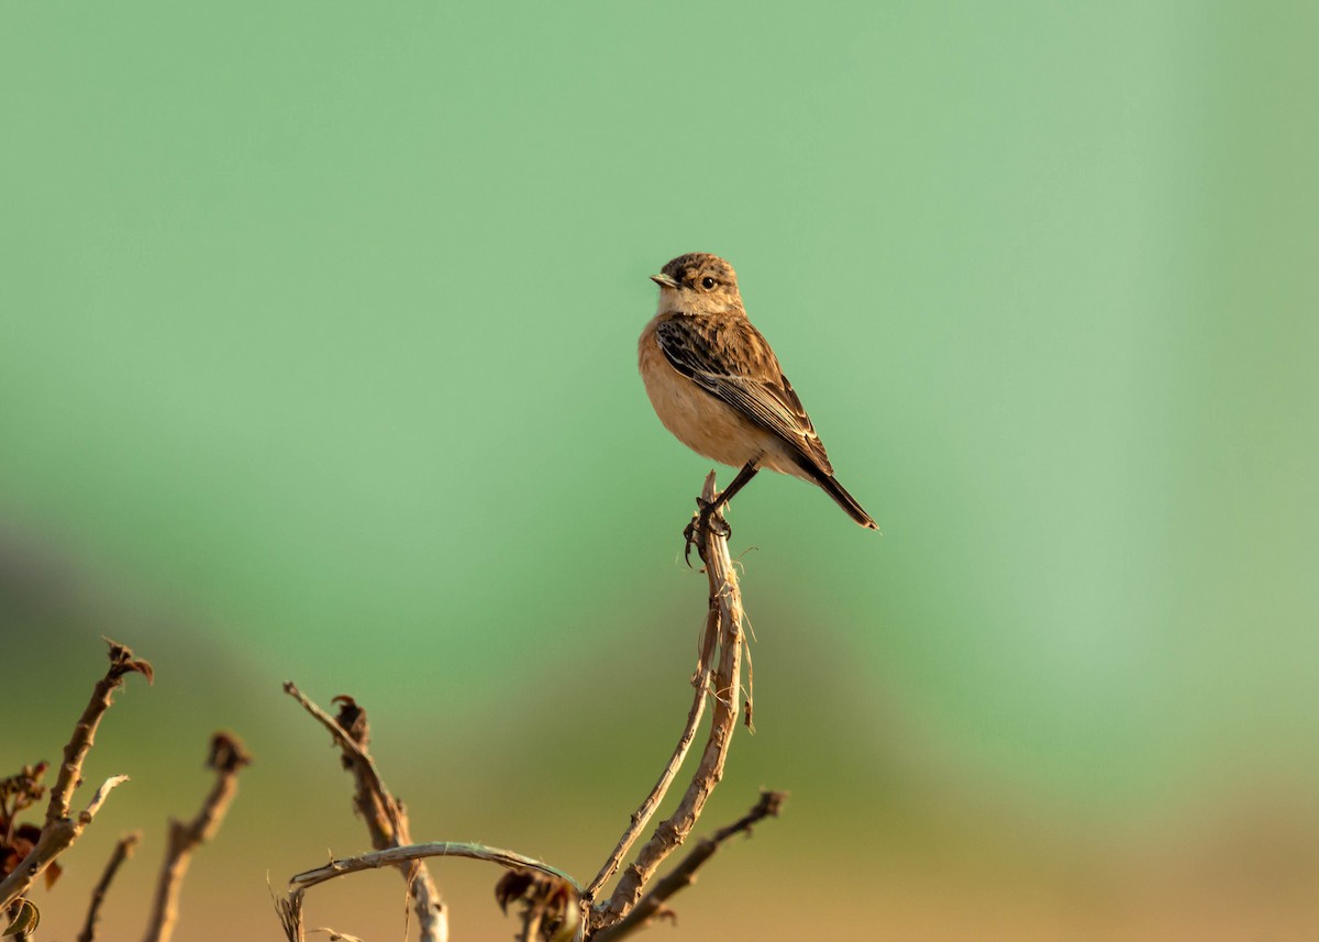
<instances>
[{"instance_id":1,"label":"entire blurred green-to-brown background behind the bird and twigs","mask_svg":"<svg viewBox=\"0 0 1319 942\"><path fill-rule=\"evenodd\" d=\"M58 757L102 633L157 668L42 937L133 827L106 934L140 933L218 727L257 761L177 938L277 938L266 876L365 847L285 678L368 707L415 838L595 873L704 607L708 463L634 352L698 249L884 536L737 499L757 732L702 830L791 800L653 934L1319 937L1316 26L0 7L0 770ZM437 876L455 942L510 937L492 868ZM309 898L368 939L402 912L393 873Z\"/></svg>"}]
</instances>

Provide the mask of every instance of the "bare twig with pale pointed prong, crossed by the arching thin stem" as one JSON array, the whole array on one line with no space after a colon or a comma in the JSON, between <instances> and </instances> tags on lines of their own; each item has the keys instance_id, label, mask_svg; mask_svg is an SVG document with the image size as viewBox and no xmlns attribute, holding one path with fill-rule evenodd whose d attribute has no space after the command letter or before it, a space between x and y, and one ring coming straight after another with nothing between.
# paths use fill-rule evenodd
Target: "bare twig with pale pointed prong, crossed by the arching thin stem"
<instances>
[{"instance_id":1,"label":"bare twig with pale pointed prong, crossed by the arching thin stem","mask_svg":"<svg viewBox=\"0 0 1319 942\"><path fill-rule=\"evenodd\" d=\"M285 682L284 693L302 705L311 716L334 738L335 745L343 752L344 768L352 772L356 793L352 803L357 809L367 830L371 832L371 846L377 851L402 847L412 843L408 813L385 786L376 763L367 751L369 734L367 712L351 697L335 697L339 703L339 716L332 718L298 690L291 681ZM421 929L419 942L447 942L448 910L445 900L431 879L430 871L419 860L398 865L408 892L413 897L417 922Z\"/></svg>"}]
</instances>

